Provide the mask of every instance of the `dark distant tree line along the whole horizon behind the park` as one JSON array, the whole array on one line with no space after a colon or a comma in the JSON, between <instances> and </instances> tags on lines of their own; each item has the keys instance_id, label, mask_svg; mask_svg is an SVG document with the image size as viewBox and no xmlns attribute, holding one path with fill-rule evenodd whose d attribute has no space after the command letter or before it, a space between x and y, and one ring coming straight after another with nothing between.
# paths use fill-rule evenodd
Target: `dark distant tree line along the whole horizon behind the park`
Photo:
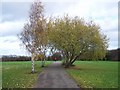
<instances>
[{"instance_id":1,"label":"dark distant tree line along the whole horizon behind the park","mask_svg":"<svg viewBox=\"0 0 120 90\"><path fill-rule=\"evenodd\" d=\"M64 57L59 52L53 53L53 55L45 57L48 61L58 61L62 60ZM30 61L30 56L2 56L2 61ZM36 60L40 61L41 58L38 57ZM78 60L81 61L92 61L91 58L86 58L85 56L79 57ZM104 59L100 61L120 61L120 48L116 50L108 50Z\"/></svg>"}]
</instances>

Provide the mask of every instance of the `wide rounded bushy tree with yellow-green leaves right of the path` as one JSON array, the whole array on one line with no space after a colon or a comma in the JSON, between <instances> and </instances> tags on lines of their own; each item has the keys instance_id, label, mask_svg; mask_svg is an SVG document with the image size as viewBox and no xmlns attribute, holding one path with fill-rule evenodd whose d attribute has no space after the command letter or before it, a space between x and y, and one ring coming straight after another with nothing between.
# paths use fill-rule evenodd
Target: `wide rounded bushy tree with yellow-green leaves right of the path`
<instances>
[{"instance_id":1,"label":"wide rounded bushy tree with yellow-green leaves right of the path","mask_svg":"<svg viewBox=\"0 0 120 90\"><path fill-rule=\"evenodd\" d=\"M108 47L107 38L94 22L79 17L56 18L51 22L49 43L65 55L64 64L69 67L78 57L102 59Z\"/></svg>"}]
</instances>

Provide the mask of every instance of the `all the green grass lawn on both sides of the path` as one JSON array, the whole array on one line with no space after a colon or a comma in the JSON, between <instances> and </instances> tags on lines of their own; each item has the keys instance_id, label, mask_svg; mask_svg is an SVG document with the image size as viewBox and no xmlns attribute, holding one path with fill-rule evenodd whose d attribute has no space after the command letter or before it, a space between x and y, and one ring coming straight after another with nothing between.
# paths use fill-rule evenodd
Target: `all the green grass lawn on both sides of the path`
<instances>
[{"instance_id":1,"label":"all the green grass lawn on both sides of the path","mask_svg":"<svg viewBox=\"0 0 120 90\"><path fill-rule=\"evenodd\" d=\"M46 62L46 66L51 64ZM65 69L81 88L117 88L118 64L112 61L76 61L75 66ZM31 62L2 62L3 88L31 88L43 70L40 61L35 62L35 74ZM120 77L120 76L119 76ZM120 86L119 86L120 87Z\"/></svg>"}]
</instances>

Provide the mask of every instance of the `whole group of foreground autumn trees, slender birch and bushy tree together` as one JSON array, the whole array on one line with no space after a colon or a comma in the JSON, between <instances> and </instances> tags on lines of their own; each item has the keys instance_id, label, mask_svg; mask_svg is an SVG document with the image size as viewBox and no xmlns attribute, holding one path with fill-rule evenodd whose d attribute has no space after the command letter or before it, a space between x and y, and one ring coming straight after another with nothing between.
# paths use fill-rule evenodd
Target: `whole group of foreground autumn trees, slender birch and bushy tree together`
<instances>
[{"instance_id":1,"label":"whole group of foreground autumn trees, slender birch and bushy tree together","mask_svg":"<svg viewBox=\"0 0 120 90\"><path fill-rule=\"evenodd\" d=\"M46 18L40 1L31 5L29 21L24 25L19 38L31 53L32 72L34 60L38 55L45 63L47 51L60 52L64 57L63 65L70 67L79 57L102 59L108 47L106 35L100 33L94 22L85 22L79 17Z\"/></svg>"}]
</instances>

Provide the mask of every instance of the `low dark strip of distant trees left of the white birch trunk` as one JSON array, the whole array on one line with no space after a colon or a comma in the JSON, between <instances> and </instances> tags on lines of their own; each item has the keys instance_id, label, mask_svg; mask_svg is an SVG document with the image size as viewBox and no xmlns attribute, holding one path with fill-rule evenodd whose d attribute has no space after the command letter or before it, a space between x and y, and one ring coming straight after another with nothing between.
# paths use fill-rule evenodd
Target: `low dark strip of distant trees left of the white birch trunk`
<instances>
[{"instance_id":1,"label":"low dark strip of distant trees left of the white birch trunk","mask_svg":"<svg viewBox=\"0 0 120 90\"><path fill-rule=\"evenodd\" d=\"M31 57L28 56L2 56L2 61L30 61Z\"/></svg>"}]
</instances>

